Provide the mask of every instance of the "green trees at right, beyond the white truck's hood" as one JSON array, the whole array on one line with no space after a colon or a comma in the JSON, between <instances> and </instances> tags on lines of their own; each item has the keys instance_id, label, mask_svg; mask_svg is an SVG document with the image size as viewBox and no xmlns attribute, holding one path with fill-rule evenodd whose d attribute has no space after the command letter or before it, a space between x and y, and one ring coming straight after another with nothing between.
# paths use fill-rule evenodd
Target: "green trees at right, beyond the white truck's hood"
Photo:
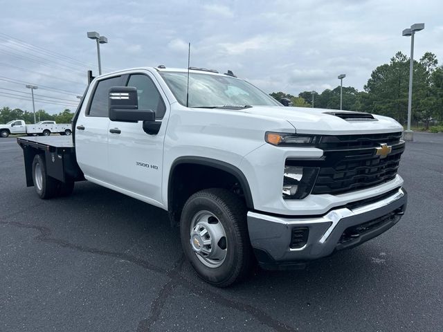
<instances>
[{"instance_id":1,"label":"green trees at right, beyond the white truck's hood","mask_svg":"<svg viewBox=\"0 0 443 332\"><path fill-rule=\"evenodd\" d=\"M372 71L371 77L358 91L352 86L343 86L343 109L365 111L395 118L405 124L408 118L409 58L397 52L388 64ZM302 91L298 96L284 92L270 94L276 100L288 98L293 106L340 109L340 86L322 93ZM414 60L413 103L414 122L424 122L427 130L431 121L443 120L443 66L431 52L424 53L419 61Z\"/></svg>"}]
</instances>

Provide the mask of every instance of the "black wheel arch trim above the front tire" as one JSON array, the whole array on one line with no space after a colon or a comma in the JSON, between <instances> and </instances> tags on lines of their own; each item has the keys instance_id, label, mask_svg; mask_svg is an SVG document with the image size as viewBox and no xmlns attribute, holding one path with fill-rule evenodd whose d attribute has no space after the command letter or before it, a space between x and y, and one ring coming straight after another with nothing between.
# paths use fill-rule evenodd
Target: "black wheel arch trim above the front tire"
<instances>
[{"instance_id":1,"label":"black wheel arch trim above the front tire","mask_svg":"<svg viewBox=\"0 0 443 332\"><path fill-rule=\"evenodd\" d=\"M212 159L212 158L205 158L205 157L198 157L198 156L183 156L179 157L176 160L174 160L174 163L172 163L170 173L169 173L169 181L168 181L168 208L170 210L171 208L171 202L172 202L172 174L174 174L174 169L178 165L181 164L198 164L198 165L204 165L204 166L210 166L217 169L221 169L224 172L227 172L236 178L238 178L240 185L243 189L244 199L246 200L246 207L248 209L253 210L254 209L254 203L252 199L251 194L251 188L249 187L248 181L246 180L246 176L244 176L243 172L234 165L225 163L224 161Z\"/></svg>"}]
</instances>

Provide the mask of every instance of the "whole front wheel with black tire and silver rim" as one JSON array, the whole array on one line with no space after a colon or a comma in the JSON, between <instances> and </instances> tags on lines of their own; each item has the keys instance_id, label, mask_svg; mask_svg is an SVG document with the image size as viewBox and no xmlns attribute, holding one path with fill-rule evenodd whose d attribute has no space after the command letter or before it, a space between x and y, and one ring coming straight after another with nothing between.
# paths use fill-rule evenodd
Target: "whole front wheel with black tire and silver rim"
<instances>
[{"instance_id":1,"label":"whole front wheel with black tire and silver rim","mask_svg":"<svg viewBox=\"0 0 443 332\"><path fill-rule=\"evenodd\" d=\"M253 256L246 212L239 196L220 188L201 190L186 201L181 245L204 281L226 287L250 272Z\"/></svg>"}]
</instances>

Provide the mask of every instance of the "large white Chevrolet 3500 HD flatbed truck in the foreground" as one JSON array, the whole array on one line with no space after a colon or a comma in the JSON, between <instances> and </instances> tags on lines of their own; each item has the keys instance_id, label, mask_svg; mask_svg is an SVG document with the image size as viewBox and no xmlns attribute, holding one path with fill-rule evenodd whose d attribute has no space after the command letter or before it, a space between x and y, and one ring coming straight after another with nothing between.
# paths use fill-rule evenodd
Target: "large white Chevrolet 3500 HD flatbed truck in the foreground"
<instances>
[{"instance_id":1,"label":"large white Chevrolet 3500 HD flatbed truck in the foreground","mask_svg":"<svg viewBox=\"0 0 443 332\"><path fill-rule=\"evenodd\" d=\"M27 185L49 199L86 179L167 210L186 257L216 286L255 261L300 268L358 246L406 210L398 122L283 107L230 71L96 77L73 126L69 138L17 139Z\"/></svg>"}]
</instances>

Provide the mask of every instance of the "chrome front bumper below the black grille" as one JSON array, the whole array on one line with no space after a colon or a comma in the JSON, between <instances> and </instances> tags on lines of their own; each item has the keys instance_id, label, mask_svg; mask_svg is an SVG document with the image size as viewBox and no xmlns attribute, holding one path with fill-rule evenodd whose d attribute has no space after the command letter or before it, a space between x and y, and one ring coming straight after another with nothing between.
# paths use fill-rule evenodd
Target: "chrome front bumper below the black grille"
<instances>
[{"instance_id":1,"label":"chrome front bumper below the black grille","mask_svg":"<svg viewBox=\"0 0 443 332\"><path fill-rule=\"evenodd\" d=\"M250 211L249 237L262 267L288 268L377 237L399 221L406 210L406 203L406 190L399 188L379 201L352 203L333 209L323 216L271 216ZM370 224L371 228L364 227ZM345 239L345 231L359 225L362 225L365 232ZM307 241L301 248L291 248L293 229L300 228L309 229Z\"/></svg>"}]
</instances>

